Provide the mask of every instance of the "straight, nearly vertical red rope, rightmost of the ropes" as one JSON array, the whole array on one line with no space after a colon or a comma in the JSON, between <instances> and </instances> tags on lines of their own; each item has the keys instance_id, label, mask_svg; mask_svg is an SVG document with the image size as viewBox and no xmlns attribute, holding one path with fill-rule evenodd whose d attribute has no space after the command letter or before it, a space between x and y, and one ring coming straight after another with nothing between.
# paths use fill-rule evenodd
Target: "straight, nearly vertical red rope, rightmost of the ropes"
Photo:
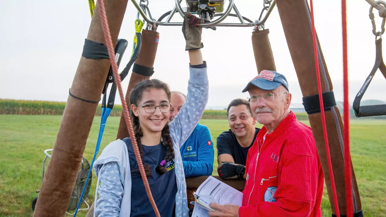
<instances>
[{"instance_id":1,"label":"straight, nearly vertical red rope, rightmost of the ropes","mask_svg":"<svg viewBox=\"0 0 386 217\"><path fill-rule=\"evenodd\" d=\"M347 15L346 0L342 0L342 36L343 36L343 142L344 142L344 181L346 188L346 215L354 215L352 204L351 156L350 156L350 117L349 117L349 75L347 70Z\"/></svg>"}]
</instances>

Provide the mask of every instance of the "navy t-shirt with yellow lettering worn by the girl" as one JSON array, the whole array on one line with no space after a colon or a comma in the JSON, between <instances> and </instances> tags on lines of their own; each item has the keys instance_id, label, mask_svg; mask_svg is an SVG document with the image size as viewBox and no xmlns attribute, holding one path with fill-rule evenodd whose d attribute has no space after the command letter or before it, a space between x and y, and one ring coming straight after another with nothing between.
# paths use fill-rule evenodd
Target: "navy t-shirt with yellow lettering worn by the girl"
<instances>
[{"instance_id":1,"label":"navy t-shirt with yellow lettering worn by the girl","mask_svg":"<svg viewBox=\"0 0 386 217\"><path fill-rule=\"evenodd\" d=\"M131 140L125 138L124 142L129 151L130 169L131 171L138 169L137 160ZM167 172L159 174L156 171L157 164L161 162L166 155L166 147L162 142L156 146L142 145L145 151L142 154L142 162L151 166L151 177L148 177L149 186L156 202L159 213L162 217L173 217L174 207L176 203L177 182L174 171L174 159L166 162L165 167ZM156 162L154 162L156 161ZM132 188L131 188L131 214L130 217L139 216L155 216L149 198L147 198L144 183L139 171L131 173Z\"/></svg>"}]
</instances>

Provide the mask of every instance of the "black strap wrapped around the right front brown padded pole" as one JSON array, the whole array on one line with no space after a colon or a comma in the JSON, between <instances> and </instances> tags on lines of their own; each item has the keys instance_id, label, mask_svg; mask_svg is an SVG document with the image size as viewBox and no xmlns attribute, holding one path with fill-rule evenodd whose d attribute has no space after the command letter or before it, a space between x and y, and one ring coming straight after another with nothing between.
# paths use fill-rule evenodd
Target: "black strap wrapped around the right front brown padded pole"
<instances>
[{"instance_id":1,"label":"black strap wrapped around the right front brown padded pole","mask_svg":"<svg viewBox=\"0 0 386 217\"><path fill-rule=\"evenodd\" d=\"M322 93L322 97L325 111L330 110L337 105L333 91ZM320 112L319 94L303 97L303 105L309 115Z\"/></svg>"}]
</instances>

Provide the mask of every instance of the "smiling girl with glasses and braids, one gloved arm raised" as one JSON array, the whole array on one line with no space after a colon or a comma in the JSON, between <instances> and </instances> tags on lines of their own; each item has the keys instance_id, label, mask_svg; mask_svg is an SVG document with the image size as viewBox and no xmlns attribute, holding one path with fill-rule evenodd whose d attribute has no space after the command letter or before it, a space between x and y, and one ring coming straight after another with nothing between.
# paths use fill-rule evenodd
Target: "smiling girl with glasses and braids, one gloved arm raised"
<instances>
[{"instance_id":1,"label":"smiling girl with glasses and braids, one gloved arm raised","mask_svg":"<svg viewBox=\"0 0 386 217\"><path fill-rule=\"evenodd\" d=\"M193 19L194 20L194 19ZM189 34L201 29L190 28ZM187 39L188 38L188 39ZM183 163L179 148L200 120L208 101L207 66L198 36L185 37L190 79L186 103L168 124L171 92L166 83L144 80L130 92L130 117L152 196L163 217L188 216ZM189 40L193 40L190 41ZM197 43L197 45L193 44ZM199 42L199 43L198 43ZM131 138L111 142L93 166L98 177L97 216L154 216L135 158Z\"/></svg>"}]
</instances>

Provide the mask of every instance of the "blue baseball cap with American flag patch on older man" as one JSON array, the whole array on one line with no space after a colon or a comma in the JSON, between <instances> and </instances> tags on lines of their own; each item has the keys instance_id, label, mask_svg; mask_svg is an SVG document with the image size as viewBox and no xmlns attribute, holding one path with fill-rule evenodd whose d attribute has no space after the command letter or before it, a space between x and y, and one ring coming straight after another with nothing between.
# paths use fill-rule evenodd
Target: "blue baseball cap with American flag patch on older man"
<instances>
[{"instance_id":1,"label":"blue baseball cap with American flag patch on older man","mask_svg":"<svg viewBox=\"0 0 386 217\"><path fill-rule=\"evenodd\" d=\"M262 90L274 90L280 85L283 85L288 90L288 82L284 75L276 71L262 70L259 75L249 81L242 92L247 92L252 86L256 86Z\"/></svg>"}]
</instances>

